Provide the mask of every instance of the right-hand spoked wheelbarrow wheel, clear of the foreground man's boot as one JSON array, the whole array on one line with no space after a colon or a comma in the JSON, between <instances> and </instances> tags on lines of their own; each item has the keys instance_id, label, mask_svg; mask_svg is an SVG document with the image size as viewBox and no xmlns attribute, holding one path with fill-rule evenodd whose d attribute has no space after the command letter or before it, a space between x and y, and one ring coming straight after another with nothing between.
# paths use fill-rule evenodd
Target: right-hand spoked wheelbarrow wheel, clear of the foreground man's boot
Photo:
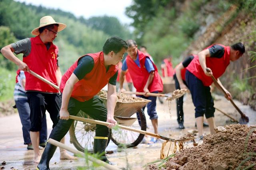
<instances>
[{"instance_id":1,"label":"right-hand spoked wheelbarrow wheel, clear of the foreground man's boot","mask_svg":"<svg viewBox=\"0 0 256 170\"><path fill-rule=\"evenodd\" d=\"M140 118L140 124L138 121L135 121L130 127L141 129L146 131L146 117L144 114L143 109L138 111L138 117ZM132 117L136 117L136 114L132 115ZM137 146L142 139L144 138L144 134L136 133L133 131L128 131L124 129L117 129L112 130L111 140L118 146L118 147L135 147Z\"/></svg>"}]
</instances>

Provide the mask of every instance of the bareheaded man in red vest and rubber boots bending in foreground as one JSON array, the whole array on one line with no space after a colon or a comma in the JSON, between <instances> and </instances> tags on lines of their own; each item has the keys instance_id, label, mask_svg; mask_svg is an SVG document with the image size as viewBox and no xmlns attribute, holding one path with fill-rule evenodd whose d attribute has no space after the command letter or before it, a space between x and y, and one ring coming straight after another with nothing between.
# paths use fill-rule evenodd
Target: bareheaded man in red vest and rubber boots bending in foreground
<instances>
[{"instance_id":1,"label":"bareheaded man in red vest and rubber boots bending in foreground","mask_svg":"<svg viewBox=\"0 0 256 170\"><path fill-rule=\"evenodd\" d=\"M114 109L116 106L116 78L117 64L122 60L127 44L119 37L107 39L103 51L87 54L80 57L62 76L60 91L62 92L62 105L60 120L52 130L50 137L60 141L68 132L74 120L69 115L77 115L82 110L95 120L111 123L108 127L96 125L94 138L94 153L99 153L101 160L110 163L105 155L109 129L116 125ZM108 84L107 109L98 92ZM48 169L56 146L47 143L42 154L38 169Z\"/></svg>"}]
</instances>

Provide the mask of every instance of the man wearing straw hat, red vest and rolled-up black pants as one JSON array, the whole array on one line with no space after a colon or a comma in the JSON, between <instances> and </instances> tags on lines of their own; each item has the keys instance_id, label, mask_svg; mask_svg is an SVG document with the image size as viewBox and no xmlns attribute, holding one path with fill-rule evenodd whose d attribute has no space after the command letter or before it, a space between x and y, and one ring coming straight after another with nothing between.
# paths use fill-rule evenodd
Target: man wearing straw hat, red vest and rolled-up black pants
<instances>
[{"instance_id":1,"label":"man wearing straw hat, red vest and rolled-up black pants","mask_svg":"<svg viewBox=\"0 0 256 170\"><path fill-rule=\"evenodd\" d=\"M40 19L40 26L31 33L36 37L22 39L3 47L1 53L14 62L26 75L25 90L30 106L30 138L34 147L34 162L39 162L39 131L42 128L42 119L46 110L50 113L53 127L58 123L57 115L60 110L61 96L58 90L38 78L32 76L30 69L50 82L60 86L61 72L58 66L58 47L52 43L59 31L66 27L63 23L57 23L51 16ZM23 62L14 54L23 53ZM64 143L64 138L62 139ZM75 159L66 150L60 149L60 159Z\"/></svg>"}]
</instances>

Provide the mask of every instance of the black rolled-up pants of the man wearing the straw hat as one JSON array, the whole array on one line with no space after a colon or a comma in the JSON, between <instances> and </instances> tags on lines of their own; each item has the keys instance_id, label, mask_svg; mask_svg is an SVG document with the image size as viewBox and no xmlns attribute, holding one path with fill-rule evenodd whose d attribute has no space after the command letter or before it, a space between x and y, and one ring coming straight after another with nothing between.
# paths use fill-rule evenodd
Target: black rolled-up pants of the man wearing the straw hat
<instances>
[{"instance_id":1,"label":"black rolled-up pants of the man wearing the straw hat","mask_svg":"<svg viewBox=\"0 0 256 170\"><path fill-rule=\"evenodd\" d=\"M60 94L46 94L40 92L27 92L30 107L30 131L38 132L42 128L42 119L46 110L52 119L52 128L58 123L58 113L61 106Z\"/></svg>"}]
</instances>

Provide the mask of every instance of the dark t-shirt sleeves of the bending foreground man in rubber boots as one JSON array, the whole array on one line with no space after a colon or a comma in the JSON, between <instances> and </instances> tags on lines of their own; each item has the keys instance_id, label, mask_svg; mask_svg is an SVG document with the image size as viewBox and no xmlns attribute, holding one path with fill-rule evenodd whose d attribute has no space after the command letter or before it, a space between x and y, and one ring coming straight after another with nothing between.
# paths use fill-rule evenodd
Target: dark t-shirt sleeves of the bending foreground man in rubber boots
<instances>
[{"instance_id":1,"label":"dark t-shirt sleeves of the bending foreground man in rubber boots","mask_svg":"<svg viewBox=\"0 0 256 170\"><path fill-rule=\"evenodd\" d=\"M82 80L86 74L92 71L92 68L94 67L94 60L91 56L85 55L82 57L78 63L77 67L74 70L74 74L78 78L78 80ZM108 68L106 69L108 71ZM116 86L116 79L117 79L118 71L109 79L110 84Z\"/></svg>"}]
</instances>

